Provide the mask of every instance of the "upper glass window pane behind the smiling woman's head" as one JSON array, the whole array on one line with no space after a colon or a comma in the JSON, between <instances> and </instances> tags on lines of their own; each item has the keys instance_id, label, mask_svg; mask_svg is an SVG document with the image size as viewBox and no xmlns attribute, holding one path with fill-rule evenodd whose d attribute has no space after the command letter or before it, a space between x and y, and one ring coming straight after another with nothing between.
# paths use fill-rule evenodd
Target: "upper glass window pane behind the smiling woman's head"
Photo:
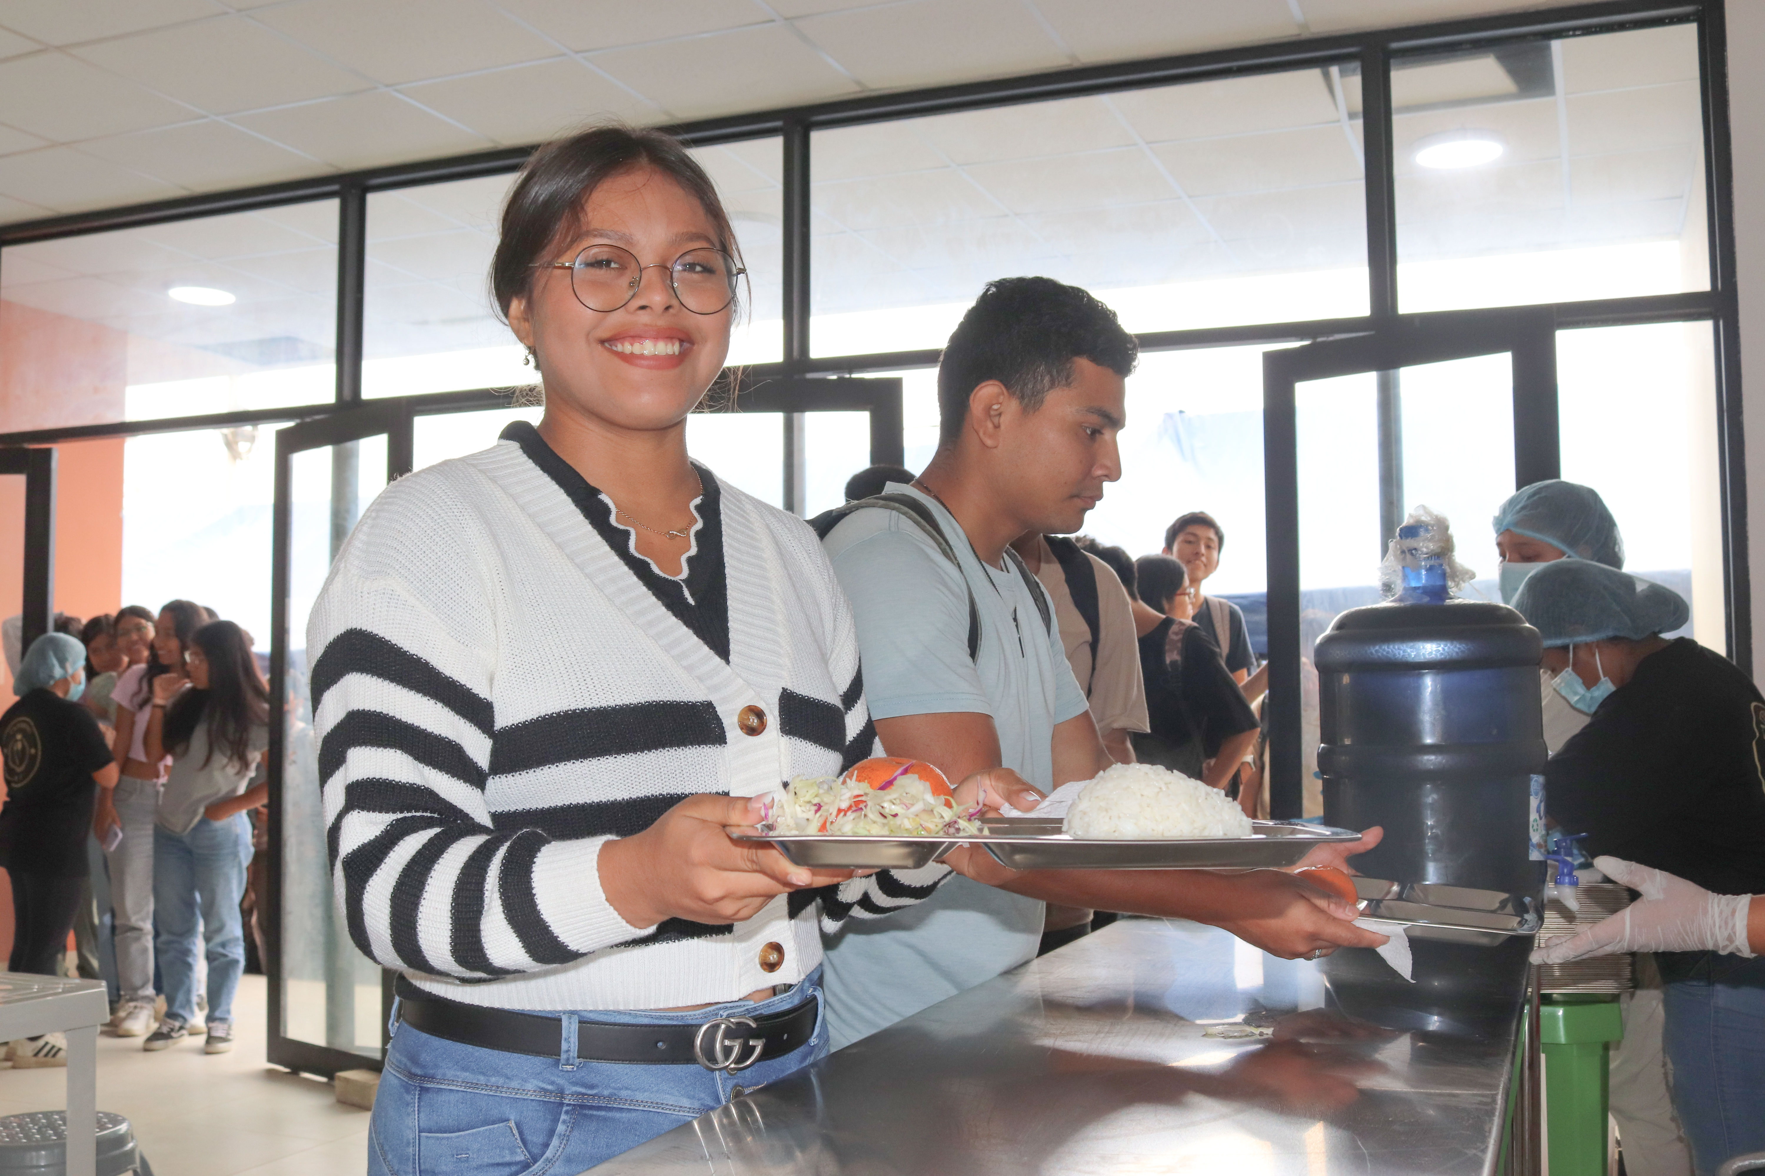
<instances>
[{"instance_id":1,"label":"upper glass window pane behind the smiling woman's head","mask_svg":"<svg viewBox=\"0 0 1765 1176\"><path fill-rule=\"evenodd\" d=\"M754 139L694 150L724 199L748 268L731 363L784 356L782 148ZM535 383L496 314L491 254L514 175L367 197L362 395L404 397ZM591 314L584 310L582 314Z\"/></svg>"}]
</instances>

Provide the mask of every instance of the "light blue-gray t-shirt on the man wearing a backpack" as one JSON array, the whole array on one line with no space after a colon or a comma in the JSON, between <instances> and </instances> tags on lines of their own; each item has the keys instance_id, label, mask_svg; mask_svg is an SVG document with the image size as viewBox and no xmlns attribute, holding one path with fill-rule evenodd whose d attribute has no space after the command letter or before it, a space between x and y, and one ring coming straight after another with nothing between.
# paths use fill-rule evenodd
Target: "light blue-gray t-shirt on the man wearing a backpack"
<instances>
[{"instance_id":1,"label":"light blue-gray t-shirt on the man wearing a backpack","mask_svg":"<svg viewBox=\"0 0 1765 1176\"><path fill-rule=\"evenodd\" d=\"M1004 767L1052 788L1054 726L1085 712L1059 631L1043 628L1029 587L1010 564L981 564L935 499L904 485L888 490L932 508L962 571L893 511L858 511L828 536L828 559L858 624L870 714L988 714ZM974 661L964 577L980 607ZM904 912L847 920L828 936L822 961L833 1047L1034 959L1041 917L1036 899L951 878Z\"/></svg>"}]
</instances>

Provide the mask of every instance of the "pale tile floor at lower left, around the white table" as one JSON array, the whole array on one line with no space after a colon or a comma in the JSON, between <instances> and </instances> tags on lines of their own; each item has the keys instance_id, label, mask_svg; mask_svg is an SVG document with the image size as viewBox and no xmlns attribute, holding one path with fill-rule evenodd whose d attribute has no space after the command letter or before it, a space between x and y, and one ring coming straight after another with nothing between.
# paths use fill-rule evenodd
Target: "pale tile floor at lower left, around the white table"
<instances>
[{"instance_id":1,"label":"pale tile floor at lower left, around the white table","mask_svg":"<svg viewBox=\"0 0 1765 1176\"><path fill-rule=\"evenodd\" d=\"M367 1171L367 1111L328 1083L263 1060L263 977L244 977L233 1053L199 1037L145 1053L139 1037L99 1035L99 1109L125 1114L157 1176L355 1176ZM0 1114L64 1105L65 1070L0 1070Z\"/></svg>"}]
</instances>

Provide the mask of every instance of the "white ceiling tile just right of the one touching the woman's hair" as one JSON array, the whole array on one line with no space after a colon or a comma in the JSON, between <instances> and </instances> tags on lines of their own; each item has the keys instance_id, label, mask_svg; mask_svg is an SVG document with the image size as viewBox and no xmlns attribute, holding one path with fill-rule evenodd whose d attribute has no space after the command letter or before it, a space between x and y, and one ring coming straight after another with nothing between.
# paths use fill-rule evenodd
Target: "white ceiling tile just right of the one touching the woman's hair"
<instances>
[{"instance_id":1,"label":"white ceiling tile just right of the one touching the woman's hair","mask_svg":"<svg viewBox=\"0 0 1765 1176\"><path fill-rule=\"evenodd\" d=\"M858 86L777 25L611 49L595 65L680 118L814 102Z\"/></svg>"}]
</instances>

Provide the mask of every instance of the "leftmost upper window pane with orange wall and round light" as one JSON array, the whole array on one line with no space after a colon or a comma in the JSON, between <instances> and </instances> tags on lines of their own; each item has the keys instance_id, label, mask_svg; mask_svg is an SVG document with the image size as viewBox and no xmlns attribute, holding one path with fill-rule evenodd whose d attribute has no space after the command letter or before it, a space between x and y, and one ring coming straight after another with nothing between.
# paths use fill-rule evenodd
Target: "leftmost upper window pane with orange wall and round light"
<instances>
[{"instance_id":1,"label":"leftmost upper window pane with orange wall and round light","mask_svg":"<svg viewBox=\"0 0 1765 1176\"><path fill-rule=\"evenodd\" d=\"M323 404L337 201L11 245L5 430Z\"/></svg>"}]
</instances>

